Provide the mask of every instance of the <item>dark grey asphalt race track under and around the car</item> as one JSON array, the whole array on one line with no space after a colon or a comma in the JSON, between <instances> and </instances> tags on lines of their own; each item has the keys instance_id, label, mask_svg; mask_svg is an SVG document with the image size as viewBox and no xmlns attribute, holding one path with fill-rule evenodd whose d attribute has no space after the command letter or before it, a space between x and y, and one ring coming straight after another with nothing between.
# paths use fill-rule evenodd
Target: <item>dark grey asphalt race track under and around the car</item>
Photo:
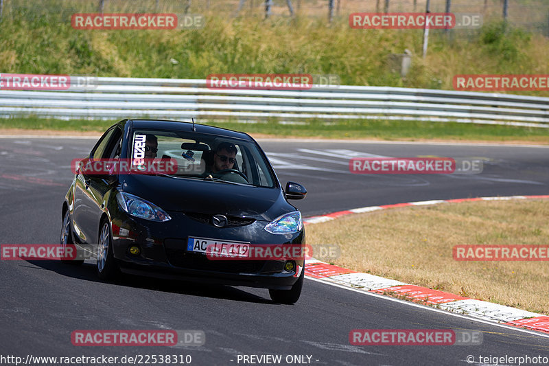
<instances>
[{"instance_id":1,"label":"dark grey asphalt race track under and around the car","mask_svg":"<svg viewBox=\"0 0 549 366\"><path fill-rule=\"evenodd\" d=\"M5 244L58 242L72 159L95 139L0 139L0 238ZM409 201L548 194L549 147L319 141L260 141L281 183L309 192L305 216ZM350 157L483 159L482 174L351 174ZM482 365L479 356L549 356L549 337L424 306L305 280L294 306L267 290L141 277L106 283L95 262L0 261L0 354L136 356L190 354L191 365L237 363L238 354L311 356L312 365ZM355 346L353 329L480 330L475 346ZM203 330L200 347L76 347L73 330ZM305 356L305 362L307 357ZM292 363L296 365L298 363ZM486 363L489 365L490 363ZM288 365L283 362L281 365Z\"/></svg>"}]
</instances>

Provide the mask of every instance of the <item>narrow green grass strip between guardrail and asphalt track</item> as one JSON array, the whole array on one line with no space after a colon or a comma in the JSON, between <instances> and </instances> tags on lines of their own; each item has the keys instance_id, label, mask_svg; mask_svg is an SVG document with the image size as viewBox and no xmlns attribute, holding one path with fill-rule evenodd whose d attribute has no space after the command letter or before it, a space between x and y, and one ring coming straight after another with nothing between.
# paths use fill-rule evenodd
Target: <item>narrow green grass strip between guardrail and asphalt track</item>
<instances>
[{"instance_id":1,"label":"narrow green grass strip between guardrail and asphalt track","mask_svg":"<svg viewBox=\"0 0 549 366\"><path fill-rule=\"evenodd\" d=\"M103 132L116 122L94 120L62 120L37 117L0 119L0 133L3 128L24 128L30 130L64 130ZM250 134L264 134L279 137L319 137L334 139L386 139L423 140L442 139L456 141L522 141L525 143L549 144L547 128L513 126L486 126L455 122L410 122L382 120L342 120L325 122L309 120L306 124L279 124L276 120L261 123L205 122Z\"/></svg>"}]
</instances>

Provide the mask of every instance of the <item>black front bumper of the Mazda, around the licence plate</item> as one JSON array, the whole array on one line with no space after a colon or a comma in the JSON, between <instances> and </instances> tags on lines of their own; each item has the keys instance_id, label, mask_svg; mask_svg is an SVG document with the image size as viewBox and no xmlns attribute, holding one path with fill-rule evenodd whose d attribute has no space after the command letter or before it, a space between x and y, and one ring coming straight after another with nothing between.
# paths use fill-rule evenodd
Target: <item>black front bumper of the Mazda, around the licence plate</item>
<instances>
[{"instance_id":1,"label":"black front bumper of the Mazda, around the licence plate","mask_svg":"<svg viewBox=\"0 0 549 366\"><path fill-rule=\"evenodd\" d=\"M303 271L303 258L293 258L294 271L285 271L283 260L210 260L203 253L187 251L189 236L249 242L250 244L305 245L305 231L275 235L265 221L240 227L214 227L182 212L170 212L172 220L152 222L123 211L111 220L113 253L123 273L193 282L289 290ZM130 253L138 247L139 254Z\"/></svg>"}]
</instances>

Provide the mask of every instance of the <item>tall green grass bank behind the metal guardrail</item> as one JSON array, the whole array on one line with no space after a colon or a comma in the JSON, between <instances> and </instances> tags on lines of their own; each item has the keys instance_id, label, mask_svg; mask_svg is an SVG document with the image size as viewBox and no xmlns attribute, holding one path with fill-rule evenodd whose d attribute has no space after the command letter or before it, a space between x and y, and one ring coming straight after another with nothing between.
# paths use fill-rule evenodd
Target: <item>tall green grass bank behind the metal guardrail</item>
<instances>
[{"instance_id":1,"label":"tall green grass bank behind the metal guardrail","mask_svg":"<svg viewBox=\"0 0 549 366\"><path fill-rule=\"evenodd\" d=\"M0 71L137 78L326 73L340 76L342 84L429 89L452 89L456 74L549 73L548 38L502 23L451 36L433 30L423 59L422 30L355 30L344 16L327 25L307 16L264 21L209 14L200 30L73 30L70 16L78 10L59 4L41 14L36 6L6 12ZM388 58L405 49L412 52L412 67L401 78Z\"/></svg>"}]
</instances>

